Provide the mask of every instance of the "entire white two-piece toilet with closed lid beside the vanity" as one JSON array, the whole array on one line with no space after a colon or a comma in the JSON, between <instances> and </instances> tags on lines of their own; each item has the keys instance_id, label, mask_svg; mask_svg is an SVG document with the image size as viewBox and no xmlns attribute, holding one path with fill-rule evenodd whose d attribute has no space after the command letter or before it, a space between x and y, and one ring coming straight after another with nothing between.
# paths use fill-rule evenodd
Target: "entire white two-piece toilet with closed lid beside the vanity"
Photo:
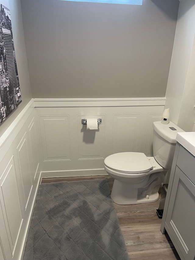
<instances>
[{"instance_id":1,"label":"entire white two-piece toilet with closed lid beside the vanity","mask_svg":"<svg viewBox=\"0 0 195 260\"><path fill-rule=\"evenodd\" d=\"M111 198L121 205L157 201L158 190L171 169L176 135L185 132L171 121L153 123L153 155L121 152L104 160L106 172L114 178Z\"/></svg>"}]
</instances>

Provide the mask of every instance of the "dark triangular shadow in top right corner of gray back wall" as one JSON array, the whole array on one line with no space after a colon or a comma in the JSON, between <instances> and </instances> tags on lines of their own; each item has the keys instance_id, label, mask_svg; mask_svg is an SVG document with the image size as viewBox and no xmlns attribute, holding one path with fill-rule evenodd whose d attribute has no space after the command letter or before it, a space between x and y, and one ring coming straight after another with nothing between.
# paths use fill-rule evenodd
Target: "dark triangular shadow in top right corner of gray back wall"
<instances>
[{"instance_id":1,"label":"dark triangular shadow in top right corner of gray back wall","mask_svg":"<svg viewBox=\"0 0 195 260\"><path fill-rule=\"evenodd\" d=\"M178 9L179 9L179 0L151 0L159 9L161 9L170 19L172 20L177 20L177 15L178 15ZM175 8L176 4L178 3L177 8ZM143 3L144 4L144 3ZM192 3L191 3L192 4ZM167 8L167 6L174 6L174 11L173 8ZM194 5L194 3L192 4ZM190 6L191 7L191 6Z\"/></svg>"}]
</instances>

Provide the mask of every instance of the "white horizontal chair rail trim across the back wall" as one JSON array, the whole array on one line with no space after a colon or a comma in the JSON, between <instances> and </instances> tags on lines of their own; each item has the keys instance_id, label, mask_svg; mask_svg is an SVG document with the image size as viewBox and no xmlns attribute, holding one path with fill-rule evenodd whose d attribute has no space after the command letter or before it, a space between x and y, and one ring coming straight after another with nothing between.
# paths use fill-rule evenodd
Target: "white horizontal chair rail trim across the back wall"
<instances>
[{"instance_id":1,"label":"white horizontal chair rail trim across the back wall","mask_svg":"<svg viewBox=\"0 0 195 260\"><path fill-rule=\"evenodd\" d=\"M110 107L165 105L166 98L35 98L35 107Z\"/></svg>"}]
</instances>

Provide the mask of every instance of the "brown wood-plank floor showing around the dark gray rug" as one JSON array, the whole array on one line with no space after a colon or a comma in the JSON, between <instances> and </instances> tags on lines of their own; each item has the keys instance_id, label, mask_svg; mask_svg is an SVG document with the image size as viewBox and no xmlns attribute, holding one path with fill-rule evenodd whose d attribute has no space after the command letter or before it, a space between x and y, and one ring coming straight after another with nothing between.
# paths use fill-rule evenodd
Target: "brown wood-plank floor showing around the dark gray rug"
<instances>
[{"instance_id":1,"label":"brown wood-plank floor showing around the dark gray rug","mask_svg":"<svg viewBox=\"0 0 195 260\"><path fill-rule=\"evenodd\" d=\"M109 175L44 178L42 183L91 179L107 179L112 190L114 180ZM159 200L134 205L115 204L130 260L180 260L168 234L163 235L160 231L158 206Z\"/></svg>"}]
</instances>

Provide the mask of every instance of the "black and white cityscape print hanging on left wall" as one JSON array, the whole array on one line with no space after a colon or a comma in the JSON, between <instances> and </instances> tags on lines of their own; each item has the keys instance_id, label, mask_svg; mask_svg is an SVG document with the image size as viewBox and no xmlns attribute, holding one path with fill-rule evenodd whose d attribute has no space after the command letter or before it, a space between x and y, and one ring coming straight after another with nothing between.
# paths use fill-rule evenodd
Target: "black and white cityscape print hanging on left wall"
<instances>
[{"instance_id":1,"label":"black and white cityscape print hanging on left wall","mask_svg":"<svg viewBox=\"0 0 195 260\"><path fill-rule=\"evenodd\" d=\"M0 0L0 124L22 102L9 1Z\"/></svg>"}]
</instances>

